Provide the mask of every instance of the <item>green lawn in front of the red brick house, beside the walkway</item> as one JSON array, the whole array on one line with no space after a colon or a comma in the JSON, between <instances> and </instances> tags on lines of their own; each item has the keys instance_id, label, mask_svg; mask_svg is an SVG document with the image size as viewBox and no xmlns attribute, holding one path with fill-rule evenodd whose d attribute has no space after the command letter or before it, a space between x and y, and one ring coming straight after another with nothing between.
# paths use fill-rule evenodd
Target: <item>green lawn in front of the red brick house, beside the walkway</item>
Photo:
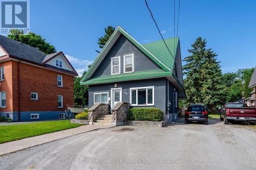
<instances>
[{"instance_id":1,"label":"green lawn in front of the red brick house, beside the walkway","mask_svg":"<svg viewBox=\"0 0 256 170\"><path fill-rule=\"evenodd\" d=\"M3 125L0 126L0 143L76 128L79 126L82 125L71 124L70 120Z\"/></svg>"}]
</instances>

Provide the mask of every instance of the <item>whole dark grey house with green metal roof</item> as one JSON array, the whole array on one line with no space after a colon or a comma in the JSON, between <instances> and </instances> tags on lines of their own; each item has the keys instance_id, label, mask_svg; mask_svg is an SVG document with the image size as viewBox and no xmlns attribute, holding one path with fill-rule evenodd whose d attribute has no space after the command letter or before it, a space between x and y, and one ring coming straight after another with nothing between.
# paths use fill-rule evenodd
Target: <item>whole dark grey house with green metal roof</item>
<instances>
[{"instance_id":1,"label":"whole dark grey house with green metal roof","mask_svg":"<svg viewBox=\"0 0 256 170\"><path fill-rule=\"evenodd\" d=\"M165 42L168 48L162 40L140 44L118 26L80 82L89 86L89 107L129 102L159 108L174 122L185 98L180 43L178 37Z\"/></svg>"}]
</instances>

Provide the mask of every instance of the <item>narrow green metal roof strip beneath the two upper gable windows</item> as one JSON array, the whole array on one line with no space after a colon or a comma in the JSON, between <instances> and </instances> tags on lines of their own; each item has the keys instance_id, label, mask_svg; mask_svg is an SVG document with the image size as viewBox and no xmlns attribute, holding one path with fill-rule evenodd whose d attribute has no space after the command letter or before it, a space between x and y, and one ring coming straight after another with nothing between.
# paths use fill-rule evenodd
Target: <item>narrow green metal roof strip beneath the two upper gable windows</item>
<instances>
[{"instance_id":1,"label":"narrow green metal roof strip beneath the two upper gable windows","mask_svg":"<svg viewBox=\"0 0 256 170\"><path fill-rule=\"evenodd\" d=\"M139 80L145 78L159 78L165 76L172 76L172 72L166 72L162 69L154 69L154 70L146 70L146 71L137 71L131 73L124 73L118 75L110 75L110 76L100 76L96 78L91 78L85 82L81 82L81 85L92 85L92 84L100 84L100 83L111 83L118 81L128 81L128 80Z\"/></svg>"}]
</instances>

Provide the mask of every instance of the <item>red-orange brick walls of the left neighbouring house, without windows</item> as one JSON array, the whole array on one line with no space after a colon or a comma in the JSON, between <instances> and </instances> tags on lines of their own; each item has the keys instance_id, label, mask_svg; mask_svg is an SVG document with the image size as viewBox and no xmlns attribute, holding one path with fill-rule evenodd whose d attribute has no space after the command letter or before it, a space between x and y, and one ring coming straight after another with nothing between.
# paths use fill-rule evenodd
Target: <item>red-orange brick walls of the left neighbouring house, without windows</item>
<instances>
[{"instance_id":1,"label":"red-orange brick walls of the left neighbouring house, without windows","mask_svg":"<svg viewBox=\"0 0 256 170\"><path fill-rule=\"evenodd\" d=\"M5 66L5 81L0 91L6 91L7 108L1 111L18 111L17 61L1 63ZM1 65L0 64L0 65ZM57 86L57 75L62 76L63 87ZM19 63L20 111L62 111L74 103L74 77ZM38 93L38 101L30 100L30 93ZM57 107L57 95L63 96L63 107Z\"/></svg>"}]
</instances>

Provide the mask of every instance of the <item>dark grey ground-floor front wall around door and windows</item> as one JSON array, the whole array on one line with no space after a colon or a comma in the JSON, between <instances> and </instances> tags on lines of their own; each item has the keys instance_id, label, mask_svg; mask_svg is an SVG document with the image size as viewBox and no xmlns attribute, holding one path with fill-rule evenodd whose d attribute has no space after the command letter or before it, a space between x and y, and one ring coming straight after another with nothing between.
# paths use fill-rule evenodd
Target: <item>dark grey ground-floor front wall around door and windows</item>
<instances>
[{"instance_id":1,"label":"dark grey ground-floor front wall around door and windows","mask_svg":"<svg viewBox=\"0 0 256 170\"><path fill-rule=\"evenodd\" d=\"M129 82L117 82L117 87L122 87L122 102L130 103L130 88L132 87L147 87L154 86L155 105L154 106L133 106L145 108L159 108L166 113L166 81L165 78L150 79L150 80L137 80ZM111 88L115 88L115 83L108 83L102 85L89 85L89 107L94 104L94 93L108 92L109 98L111 97ZM109 101L111 105L111 101Z\"/></svg>"}]
</instances>

